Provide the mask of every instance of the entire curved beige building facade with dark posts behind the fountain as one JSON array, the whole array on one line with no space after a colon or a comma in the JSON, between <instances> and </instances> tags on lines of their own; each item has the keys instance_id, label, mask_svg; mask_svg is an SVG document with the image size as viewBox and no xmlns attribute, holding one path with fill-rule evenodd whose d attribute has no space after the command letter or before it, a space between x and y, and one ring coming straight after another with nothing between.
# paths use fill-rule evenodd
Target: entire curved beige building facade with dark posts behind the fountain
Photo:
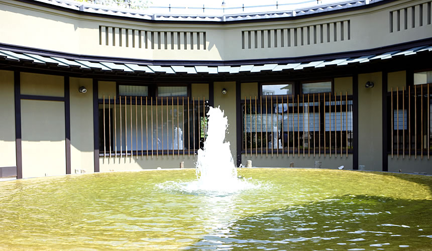
<instances>
[{"instance_id":1,"label":"entire curved beige building facade with dark posts behind the fountain","mask_svg":"<svg viewBox=\"0 0 432 251\"><path fill-rule=\"evenodd\" d=\"M149 15L0 0L0 176L237 166L431 173L432 2Z\"/></svg>"}]
</instances>

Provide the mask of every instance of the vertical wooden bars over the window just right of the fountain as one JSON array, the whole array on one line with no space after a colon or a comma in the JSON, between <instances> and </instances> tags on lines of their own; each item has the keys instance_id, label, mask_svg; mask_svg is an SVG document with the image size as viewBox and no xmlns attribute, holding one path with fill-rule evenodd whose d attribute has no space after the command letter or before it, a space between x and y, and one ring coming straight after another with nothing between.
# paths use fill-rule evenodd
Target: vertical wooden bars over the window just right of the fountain
<instances>
[{"instance_id":1,"label":"vertical wooden bars over the window just right of the fountain","mask_svg":"<svg viewBox=\"0 0 432 251\"><path fill-rule=\"evenodd\" d=\"M242 105L240 127L246 157L255 151L255 157L328 153L333 158L344 157L344 153L348 157L352 150L352 96L347 91L266 95L259 100L245 96Z\"/></svg>"}]
</instances>

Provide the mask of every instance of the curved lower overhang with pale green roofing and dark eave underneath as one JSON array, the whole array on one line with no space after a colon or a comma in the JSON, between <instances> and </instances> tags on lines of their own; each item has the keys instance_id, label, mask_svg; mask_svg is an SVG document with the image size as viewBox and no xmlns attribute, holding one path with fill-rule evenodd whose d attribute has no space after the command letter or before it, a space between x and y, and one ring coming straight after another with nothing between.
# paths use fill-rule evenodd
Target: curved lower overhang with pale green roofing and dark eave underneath
<instances>
[{"instance_id":1,"label":"curved lower overhang with pale green roofing and dark eave underneath","mask_svg":"<svg viewBox=\"0 0 432 251\"><path fill-rule=\"evenodd\" d=\"M41 70L57 70L79 74L128 75L128 76L227 76L260 75L267 73L299 73L305 70L361 67L372 63L386 63L413 55L430 56L431 41L419 41L388 48L316 55L307 58L262 59L260 61L153 61L127 58L102 58L89 55L72 55L52 51L33 50L16 46L0 45L0 65L5 67L26 67Z\"/></svg>"}]
</instances>

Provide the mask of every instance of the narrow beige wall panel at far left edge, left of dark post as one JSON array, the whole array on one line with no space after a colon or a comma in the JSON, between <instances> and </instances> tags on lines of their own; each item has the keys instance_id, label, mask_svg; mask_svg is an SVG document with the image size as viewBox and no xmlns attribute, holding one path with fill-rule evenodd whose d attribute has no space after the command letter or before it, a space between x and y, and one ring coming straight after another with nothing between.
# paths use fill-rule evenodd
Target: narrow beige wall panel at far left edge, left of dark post
<instances>
[{"instance_id":1,"label":"narrow beige wall panel at far left edge, left of dark post","mask_svg":"<svg viewBox=\"0 0 432 251\"><path fill-rule=\"evenodd\" d=\"M0 70L0 167L17 165L14 72Z\"/></svg>"}]
</instances>

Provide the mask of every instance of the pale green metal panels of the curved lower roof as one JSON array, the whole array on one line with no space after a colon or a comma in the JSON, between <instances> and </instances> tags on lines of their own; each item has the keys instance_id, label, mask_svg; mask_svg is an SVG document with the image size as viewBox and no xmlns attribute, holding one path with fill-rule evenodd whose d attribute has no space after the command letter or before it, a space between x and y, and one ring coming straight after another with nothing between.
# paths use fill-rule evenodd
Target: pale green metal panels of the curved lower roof
<instances>
[{"instance_id":1,"label":"pale green metal panels of the curved lower roof","mask_svg":"<svg viewBox=\"0 0 432 251\"><path fill-rule=\"evenodd\" d=\"M302 70L304 68L322 68L327 66L343 66L354 63L364 64L372 60L388 60L393 57L409 56L419 52L432 51L431 45L417 46L409 49L393 50L390 52L372 54L365 53L356 57L341 57L330 60L316 60L296 63L268 63L268 64L242 64L242 65L205 65L205 61L200 65L157 65L157 64L139 64L139 63L113 63L100 61L88 61L85 59L67 59L61 56L46 56L36 53L14 52L7 49L0 49L0 58L19 62L31 62L33 64L54 64L59 67L80 68L84 70L97 70L102 72L145 72L145 73L165 73L165 74L236 74L236 73L254 73L262 71L282 71L282 70Z\"/></svg>"}]
</instances>

